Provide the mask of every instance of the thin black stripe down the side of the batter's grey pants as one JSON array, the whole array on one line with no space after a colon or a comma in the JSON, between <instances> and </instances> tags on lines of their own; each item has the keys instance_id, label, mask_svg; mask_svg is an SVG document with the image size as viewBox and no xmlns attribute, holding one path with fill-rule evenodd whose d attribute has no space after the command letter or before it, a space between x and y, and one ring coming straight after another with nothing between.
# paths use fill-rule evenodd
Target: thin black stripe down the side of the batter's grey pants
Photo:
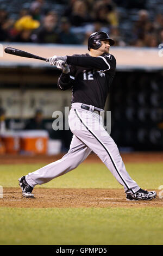
<instances>
[{"instance_id":1,"label":"thin black stripe down the side of the batter's grey pants","mask_svg":"<svg viewBox=\"0 0 163 256\"><path fill-rule=\"evenodd\" d=\"M77 117L79 118L80 122L85 126L85 128L91 133L91 135L93 135L93 137L95 137L97 139L97 141L102 145L102 147L106 150L106 152L108 153L110 160L114 166L114 168L116 169L117 174L120 176L121 180L123 181L123 183L126 185L126 187L128 188L128 190L131 190L131 188L128 187L128 185L126 184L126 182L123 180L120 172L118 171L118 168L116 167L116 164L114 162L114 160L111 157L111 154L109 153L109 150L105 147L105 145L98 139L98 137L84 124L84 122L82 121L82 119L79 117L78 113L77 113L77 109L74 109L74 112L76 113ZM131 190L131 192L133 192L133 190ZM133 192L134 193L134 192Z\"/></svg>"}]
</instances>

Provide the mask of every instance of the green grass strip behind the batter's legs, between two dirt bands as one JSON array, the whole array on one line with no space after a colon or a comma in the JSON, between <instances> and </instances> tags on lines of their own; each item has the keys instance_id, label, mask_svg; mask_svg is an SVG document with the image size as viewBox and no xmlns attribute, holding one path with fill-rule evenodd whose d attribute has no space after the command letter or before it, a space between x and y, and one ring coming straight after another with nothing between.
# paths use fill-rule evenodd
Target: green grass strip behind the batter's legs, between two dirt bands
<instances>
[{"instance_id":1,"label":"green grass strip behind the batter's legs, between two dirt bands","mask_svg":"<svg viewBox=\"0 0 163 256\"><path fill-rule=\"evenodd\" d=\"M17 179L22 175L41 168L44 164L4 164L0 165L0 185L18 187ZM163 180L163 163L127 163L126 169L142 188L158 189ZM62 188L122 188L103 163L82 163L63 176L41 187Z\"/></svg>"}]
</instances>

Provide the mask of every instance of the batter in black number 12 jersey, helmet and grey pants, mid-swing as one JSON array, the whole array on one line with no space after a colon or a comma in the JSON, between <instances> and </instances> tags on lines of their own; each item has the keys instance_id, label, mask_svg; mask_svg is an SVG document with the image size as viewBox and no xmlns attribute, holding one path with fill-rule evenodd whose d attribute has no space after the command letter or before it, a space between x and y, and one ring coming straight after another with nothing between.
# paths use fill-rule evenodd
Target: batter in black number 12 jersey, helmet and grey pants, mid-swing
<instances>
[{"instance_id":1,"label":"batter in black number 12 jersey, helmet and grey pants, mid-swing","mask_svg":"<svg viewBox=\"0 0 163 256\"><path fill-rule=\"evenodd\" d=\"M95 32L88 39L89 54L53 56L47 61L62 69L61 90L72 88L68 123L73 133L70 149L62 159L21 177L22 196L33 198L33 188L75 169L93 151L124 187L127 200L151 200L155 191L142 190L129 176L117 145L103 127L101 113L115 76L116 59L109 53L114 40Z\"/></svg>"}]
</instances>

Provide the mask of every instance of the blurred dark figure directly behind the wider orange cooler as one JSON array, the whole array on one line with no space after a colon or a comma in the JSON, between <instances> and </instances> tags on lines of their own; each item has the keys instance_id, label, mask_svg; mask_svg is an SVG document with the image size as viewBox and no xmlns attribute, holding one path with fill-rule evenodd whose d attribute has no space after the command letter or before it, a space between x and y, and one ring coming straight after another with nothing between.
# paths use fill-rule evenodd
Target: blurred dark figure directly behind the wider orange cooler
<instances>
[{"instance_id":1,"label":"blurred dark figure directly behind the wider orange cooler","mask_svg":"<svg viewBox=\"0 0 163 256\"><path fill-rule=\"evenodd\" d=\"M27 123L25 130L46 130L43 124L43 112L41 109L35 111L34 118L30 119Z\"/></svg>"}]
</instances>

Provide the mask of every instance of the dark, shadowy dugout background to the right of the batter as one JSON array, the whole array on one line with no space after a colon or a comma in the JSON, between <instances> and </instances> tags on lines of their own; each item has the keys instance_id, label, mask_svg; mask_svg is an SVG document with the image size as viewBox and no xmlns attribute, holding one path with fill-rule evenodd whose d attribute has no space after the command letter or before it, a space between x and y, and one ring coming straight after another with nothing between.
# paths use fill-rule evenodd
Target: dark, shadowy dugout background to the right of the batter
<instances>
[{"instance_id":1,"label":"dark, shadowy dugout background to the right of the batter","mask_svg":"<svg viewBox=\"0 0 163 256\"><path fill-rule=\"evenodd\" d=\"M110 93L111 136L120 147L159 150L162 72L117 72Z\"/></svg>"}]
</instances>

